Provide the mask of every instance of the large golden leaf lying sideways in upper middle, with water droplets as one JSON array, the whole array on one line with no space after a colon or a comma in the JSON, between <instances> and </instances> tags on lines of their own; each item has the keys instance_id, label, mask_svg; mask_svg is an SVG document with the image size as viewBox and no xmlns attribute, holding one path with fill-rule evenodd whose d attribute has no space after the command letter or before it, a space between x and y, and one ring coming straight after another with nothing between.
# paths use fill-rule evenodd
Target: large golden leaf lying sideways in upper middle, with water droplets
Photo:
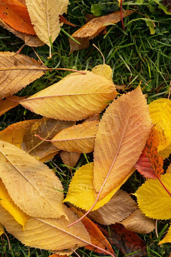
<instances>
[{"instance_id":1,"label":"large golden leaf lying sideways in upper middle, with water droplets","mask_svg":"<svg viewBox=\"0 0 171 257\"><path fill-rule=\"evenodd\" d=\"M100 113L115 96L115 85L111 81L86 71L86 75L66 76L25 99L21 105L48 118L76 121Z\"/></svg>"}]
</instances>

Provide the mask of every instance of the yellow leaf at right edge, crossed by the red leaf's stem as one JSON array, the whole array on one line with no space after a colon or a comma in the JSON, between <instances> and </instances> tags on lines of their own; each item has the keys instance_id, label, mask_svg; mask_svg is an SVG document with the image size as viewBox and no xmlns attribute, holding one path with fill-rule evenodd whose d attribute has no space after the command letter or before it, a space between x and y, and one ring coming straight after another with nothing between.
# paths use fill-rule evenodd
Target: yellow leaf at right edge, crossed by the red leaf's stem
<instances>
[{"instance_id":1,"label":"yellow leaf at right edge, crossed by the red leaf's stem","mask_svg":"<svg viewBox=\"0 0 171 257\"><path fill-rule=\"evenodd\" d=\"M171 192L171 174L161 175L161 181ZM153 219L170 219L171 196L163 188L159 180L149 179L134 194L140 210Z\"/></svg>"}]
</instances>

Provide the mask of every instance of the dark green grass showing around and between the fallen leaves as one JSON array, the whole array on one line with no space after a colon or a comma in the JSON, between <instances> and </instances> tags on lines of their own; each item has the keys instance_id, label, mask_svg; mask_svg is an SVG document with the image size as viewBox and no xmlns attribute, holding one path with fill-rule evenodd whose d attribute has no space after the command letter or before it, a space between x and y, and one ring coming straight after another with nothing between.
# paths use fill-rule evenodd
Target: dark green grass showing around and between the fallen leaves
<instances>
[{"instance_id":1,"label":"dark green grass showing around and between the fallen leaves","mask_svg":"<svg viewBox=\"0 0 171 257\"><path fill-rule=\"evenodd\" d=\"M108 2L108 1L106 1ZM109 1L110 2L110 1ZM70 22L77 25L77 29L81 27L85 21L85 14L92 14L90 9L92 4L98 3L96 1L79 1L71 0L68 8L67 19ZM117 1L116 1L117 3ZM128 5L128 2L124 2L123 8L135 8L135 6ZM150 13L147 6L149 2L144 1L144 5L140 5L140 12L147 14L150 19L156 20L157 33L150 34L150 30L147 27L142 15L134 13L124 19L124 25L126 31L123 32L121 22L116 25L108 26L107 35L101 35L94 40L90 40L88 49L76 51L69 55L70 47L68 42L68 36L61 31L58 38L53 43L54 55L52 59L47 59L49 56L48 46L42 46L36 48L37 54L42 61L49 68L58 66L59 68L75 68L78 70L88 69L91 70L95 65L103 62L100 53L92 46L94 43L99 47L105 57L106 64L109 64L113 70L113 81L115 84L127 84L128 89L124 91L130 91L138 86L141 82L141 87L144 87L143 93L147 94L147 102L150 103L158 98L168 97L169 83L170 83L170 70L171 70L171 45L170 32L171 32L171 15L166 15L160 9L155 6L155 12ZM116 11L117 5L106 4L106 9L102 14L108 14L109 12ZM139 18L139 19L138 19ZM134 19L138 19L135 20ZM63 29L70 35L76 30L76 28L64 25ZM15 37L12 33L1 28L0 37L0 50L1 51L13 51L16 52L23 45L21 39ZM31 47L25 46L21 51L22 54L29 55L36 58L35 53ZM48 87L61 78L65 77L68 72L61 71L48 71L43 77L37 79L35 82L28 85L25 89L17 93L18 96L32 95L39 90ZM149 82L150 81L150 82ZM123 93L122 90L119 93ZM31 113L29 110L25 110L21 105L8 111L0 117L0 128L4 129L8 125L27 119L36 119L40 116ZM89 161L93 160L93 154L87 154ZM164 162L164 168L170 164L171 159L167 159ZM87 163L85 156L82 154L76 169ZM59 156L56 156L52 162L48 163L49 167L56 171L56 175L60 178L64 185L64 191L67 191L68 185L71 181L71 174L69 169L62 165ZM58 169L58 167L62 172ZM73 170L73 173L75 170ZM122 186L122 189L128 193L134 193L136 189L144 182L143 177L135 172L128 181ZM165 227L169 224L169 221L158 221L158 234L159 237L163 237L167 231ZM162 229L165 227L165 230ZM3 256L42 256L48 257L50 252L38 250L34 248L25 247L12 235L8 235L11 243L11 251L8 247L8 242L5 236L2 235L0 240L0 254ZM147 243L148 256L166 256L168 257L171 252L169 244L164 244L162 247L158 246L158 240L155 231L150 234L141 234L140 237ZM115 249L115 247L113 247ZM78 250L81 256L99 256L91 251L83 248ZM123 256L117 249L115 249L117 256ZM75 256L75 254L73 255ZM101 256L101 255L100 255ZM102 255L103 256L103 255Z\"/></svg>"}]
</instances>

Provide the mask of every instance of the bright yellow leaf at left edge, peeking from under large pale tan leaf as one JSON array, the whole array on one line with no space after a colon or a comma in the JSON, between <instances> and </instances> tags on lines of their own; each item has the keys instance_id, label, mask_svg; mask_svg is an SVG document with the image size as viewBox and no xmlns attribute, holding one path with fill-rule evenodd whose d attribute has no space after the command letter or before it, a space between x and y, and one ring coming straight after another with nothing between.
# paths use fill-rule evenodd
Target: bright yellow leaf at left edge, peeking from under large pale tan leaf
<instances>
[{"instance_id":1,"label":"bright yellow leaf at left edge, peeking from under large pale tan leaf","mask_svg":"<svg viewBox=\"0 0 171 257\"><path fill-rule=\"evenodd\" d=\"M24 228L27 220L29 219L29 215L26 215L23 211L20 210L19 207L14 204L13 200L8 194L7 189L5 188L2 180L0 179L0 203L7 210L14 219L22 225Z\"/></svg>"}]
</instances>

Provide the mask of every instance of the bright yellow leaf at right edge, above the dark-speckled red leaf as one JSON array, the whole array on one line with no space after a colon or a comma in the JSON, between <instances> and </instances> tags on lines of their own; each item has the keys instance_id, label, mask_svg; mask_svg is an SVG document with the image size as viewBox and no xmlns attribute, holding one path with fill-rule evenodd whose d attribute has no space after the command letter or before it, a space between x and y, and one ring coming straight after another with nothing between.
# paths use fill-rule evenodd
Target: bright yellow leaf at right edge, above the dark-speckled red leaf
<instances>
[{"instance_id":1,"label":"bright yellow leaf at right edge, above the dark-speckled red leaf","mask_svg":"<svg viewBox=\"0 0 171 257\"><path fill-rule=\"evenodd\" d=\"M171 100L161 98L149 104L152 123L159 136L158 152L171 144Z\"/></svg>"}]
</instances>

